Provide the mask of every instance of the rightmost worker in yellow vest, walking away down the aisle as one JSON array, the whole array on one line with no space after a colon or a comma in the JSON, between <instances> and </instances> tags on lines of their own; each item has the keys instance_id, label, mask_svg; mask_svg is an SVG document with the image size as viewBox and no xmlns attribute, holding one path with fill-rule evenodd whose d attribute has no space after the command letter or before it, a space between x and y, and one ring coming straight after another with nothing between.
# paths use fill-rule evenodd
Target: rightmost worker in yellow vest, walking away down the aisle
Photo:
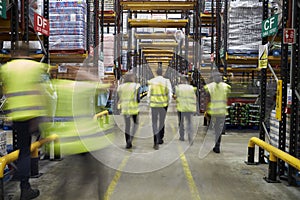
<instances>
[{"instance_id":1,"label":"rightmost worker in yellow vest, walking away down the aisle","mask_svg":"<svg viewBox=\"0 0 300 200\"><path fill-rule=\"evenodd\" d=\"M225 117L227 111L228 94L231 91L231 86L224 83L222 76L218 71L212 72L212 82L206 84L204 89L209 93L210 101L207 106L207 113L211 116L211 127L214 127L215 146L213 151L220 153L220 144L222 134L225 133Z\"/></svg>"}]
</instances>

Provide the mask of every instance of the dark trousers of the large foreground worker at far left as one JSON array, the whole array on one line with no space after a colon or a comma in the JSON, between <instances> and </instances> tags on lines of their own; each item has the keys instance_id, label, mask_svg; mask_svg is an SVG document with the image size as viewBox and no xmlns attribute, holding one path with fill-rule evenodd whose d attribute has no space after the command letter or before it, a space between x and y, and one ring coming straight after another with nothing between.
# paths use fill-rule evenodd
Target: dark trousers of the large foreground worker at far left
<instances>
[{"instance_id":1,"label":"dark trousers of the large foreground worker at far left","mask_svg":"<svg viewBox=\"0 0 300 200\"><path fill-rule=\"evenodd\" d=\"M17 177L20 179L21 189L30 187L29 177L31 173L31 135L38 131L39 119L34 118L27 121L14 121L13 130L16 132L16 147L20 150L17 159Z\"/></svg>"}]
</instances>

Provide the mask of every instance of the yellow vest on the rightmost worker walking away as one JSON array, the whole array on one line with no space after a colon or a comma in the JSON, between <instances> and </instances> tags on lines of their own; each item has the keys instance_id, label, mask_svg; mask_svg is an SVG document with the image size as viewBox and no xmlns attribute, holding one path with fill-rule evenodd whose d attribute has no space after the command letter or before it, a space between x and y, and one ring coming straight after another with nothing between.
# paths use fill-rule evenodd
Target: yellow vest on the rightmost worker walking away
<instances>
[{"instance_id":1,"label":"yellow vest on the rightmost worker walking away","mask_svg":"<svg viewBox=\"0 0 300 200\"><path fill-rule=\"evenodd\" d=\"M227 115L227 96L231 86L224 83L209 83L204 89L210 94L210 102L208 103L207 112L210 115Z\"/></svg>"}]
</instances>

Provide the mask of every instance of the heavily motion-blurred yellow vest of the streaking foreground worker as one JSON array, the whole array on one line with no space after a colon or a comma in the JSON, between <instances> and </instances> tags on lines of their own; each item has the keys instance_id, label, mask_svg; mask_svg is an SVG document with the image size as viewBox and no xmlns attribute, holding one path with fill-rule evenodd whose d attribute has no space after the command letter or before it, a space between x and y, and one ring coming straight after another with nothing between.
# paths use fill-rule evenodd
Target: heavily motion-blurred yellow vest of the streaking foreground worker
<instances>
[{"instance_id":1,"label":"heavily motion-blurred yellow vest of the streaking foreground worker","mask_svg":"<svg viewBox=\"0 0 300 200\"><path fill-rule=\"evenodd\" d=\"M95 95L99 87L93 81L53 79L57 93L54 122L43 123L46 135L55 133L60 138L61 153L65 156L102 149L111 144L112 134L101 131L95 115Z\"/></svg>"}]
</instances>

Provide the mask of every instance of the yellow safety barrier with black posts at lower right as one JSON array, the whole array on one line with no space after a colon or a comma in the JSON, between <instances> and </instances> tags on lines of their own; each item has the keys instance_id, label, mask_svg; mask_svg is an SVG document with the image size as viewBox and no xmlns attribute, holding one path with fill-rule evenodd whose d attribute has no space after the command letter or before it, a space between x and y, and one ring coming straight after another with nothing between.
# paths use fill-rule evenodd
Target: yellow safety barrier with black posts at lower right
<instances>
[{"instance_id":1,"label":"yellow safety barrier with black posts at lower right","mask_svg":"<svg viewBox=\"0 0 300 200\"><path fill-rule=\"evenodd\" d=\"M268 182L277 182L277 158L283 160L290 166L300 170L300 160L291 156L290 154L266 143L265 141L252 137L248 142L248 161L247 164L255 164L254 162L254 153L255 153L255 145L260 146L270 153L269 155L269 175L266 178Z\"/></svg>"}]
</instances>

